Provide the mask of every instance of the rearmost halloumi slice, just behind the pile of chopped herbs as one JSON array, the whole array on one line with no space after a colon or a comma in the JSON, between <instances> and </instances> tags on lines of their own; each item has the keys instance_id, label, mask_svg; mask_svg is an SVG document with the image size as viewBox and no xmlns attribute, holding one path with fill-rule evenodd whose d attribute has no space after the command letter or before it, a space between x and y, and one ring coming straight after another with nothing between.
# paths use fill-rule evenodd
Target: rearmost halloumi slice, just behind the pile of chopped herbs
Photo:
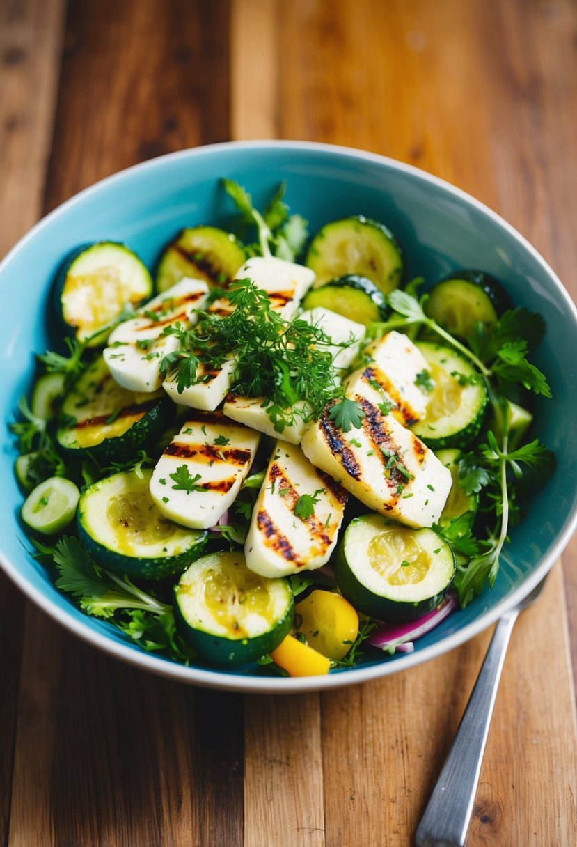
<instances>
[{"instance_id":1,"label":"rearmost halloumi slice, just behind the pile of chopped herbs","mask_svg":"<svg viewBox=\"0 0 577 847\"><path fill-rule=\"evenodd\" d=\"M299 308L299 302L315 280L315 272L305 265L287 262L274 256L253 256L239 268L237 280L252 280L257 288L266 291L272 312L290 320ZM230 303L220 298L211 303L208 312L230 313Z\"/></svg>"}]
</instances>

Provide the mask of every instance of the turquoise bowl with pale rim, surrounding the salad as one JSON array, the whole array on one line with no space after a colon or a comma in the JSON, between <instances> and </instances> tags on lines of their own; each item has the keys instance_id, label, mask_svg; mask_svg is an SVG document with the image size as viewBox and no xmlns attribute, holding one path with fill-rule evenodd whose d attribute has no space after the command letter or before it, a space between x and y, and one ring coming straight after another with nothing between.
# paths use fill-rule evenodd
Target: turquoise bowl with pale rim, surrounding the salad
<instances>
[{"instance_id":1,"label":"turquoise bowl with pale rim, surrounding the salad","mask_svg":"<svg viewBox=\"0 0 577 847\"><path fill-rule=\"evenodd\" d=\"M257 207L281 180L287 202L315 232L350 214L381 220L398 236L409 274L428 283L454 268L482 268L502 280L515 305L540 312L547 336L534 361L547 374L552 400L536 407L535 433L557 454L558 469L530 499L492 590L455 612L415 643L415 652L365 656L359 667L316 678L273 678L253 668L184 667L147 653L113 626L80 612L25 551L19 523L22 495L14 478L8 424L30 389L34 354L51 344L49 292L63 257L88 241L124 241L153 268L162 246L183 226L225 224L233 213L219 180L238 180ZM4 513L0 562L14 583L74 634L118 659L182 682L215 689L295 693L365 682L424 662L470 639L517 603L547 573L577 518L577 313L552 269L490 209L430 174L391 159L342 147L263 141L199 147L153 159L82 191L41 220L0 265L3 379L0 402L6 436L0 486ZM25 545L23 545L23 541Z\"/></svg>"}]
</instances>

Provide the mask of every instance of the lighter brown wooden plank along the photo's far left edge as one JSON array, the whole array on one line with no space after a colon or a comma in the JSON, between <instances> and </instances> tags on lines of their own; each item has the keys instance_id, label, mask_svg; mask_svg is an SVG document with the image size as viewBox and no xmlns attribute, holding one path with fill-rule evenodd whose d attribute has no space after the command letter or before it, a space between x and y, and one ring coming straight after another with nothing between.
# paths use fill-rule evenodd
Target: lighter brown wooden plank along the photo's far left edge
<instances>
[{"instance_id":1,"label":"lighter brown wooden plank along the photo's far left edge","mask_svg":"<svg viewBox=\"0 0 577 847\"><path fill-rule=\"evenodd\" d=\"M0 2L0 257L41 215L63 3ZM33 95L33 96L32 96ZM0 841L8 840L24 598L0 574Z\"/></svg>"}]
</instances>

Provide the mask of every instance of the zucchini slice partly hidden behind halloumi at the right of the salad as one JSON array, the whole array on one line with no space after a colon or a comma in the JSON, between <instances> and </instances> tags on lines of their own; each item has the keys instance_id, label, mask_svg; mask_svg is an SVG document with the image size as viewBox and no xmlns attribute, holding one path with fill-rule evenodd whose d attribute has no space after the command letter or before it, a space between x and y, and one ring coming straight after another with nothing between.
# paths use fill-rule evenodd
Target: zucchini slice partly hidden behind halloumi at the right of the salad
<instances>
[{"instance_id":1,"label":"zucchini slice partly hidden behind halloumi at the right of the salad","mask_svg":"<svg viewBox=\"0 0 577 847\"><path fill-rule=\"evenodd\" d=\"M426 358L433 389L425 414L410 429L432 450L468 446L485 415L483 379L452 348L427 341L419 341L417 346Z\"/></svg>"}]
</instances>

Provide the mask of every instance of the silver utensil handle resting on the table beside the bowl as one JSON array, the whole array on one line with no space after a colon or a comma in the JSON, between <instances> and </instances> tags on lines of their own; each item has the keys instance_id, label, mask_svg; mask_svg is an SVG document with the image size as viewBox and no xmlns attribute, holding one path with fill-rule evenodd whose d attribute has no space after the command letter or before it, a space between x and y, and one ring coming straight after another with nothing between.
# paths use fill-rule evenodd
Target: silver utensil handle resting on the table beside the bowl
<instances>
[{"instance_id":1,"label":"silver utensil handle resting on the table beside the bowl","mask_svg":"<svg viewBox=\"0 0 577 847\"><path fill-rule=\"evenodd\" d=\"M416 847L464 845L499 679L517 614L512 610L497 623L447 760L420 819L415 833Z\"/></svg>"}]
</instances>

